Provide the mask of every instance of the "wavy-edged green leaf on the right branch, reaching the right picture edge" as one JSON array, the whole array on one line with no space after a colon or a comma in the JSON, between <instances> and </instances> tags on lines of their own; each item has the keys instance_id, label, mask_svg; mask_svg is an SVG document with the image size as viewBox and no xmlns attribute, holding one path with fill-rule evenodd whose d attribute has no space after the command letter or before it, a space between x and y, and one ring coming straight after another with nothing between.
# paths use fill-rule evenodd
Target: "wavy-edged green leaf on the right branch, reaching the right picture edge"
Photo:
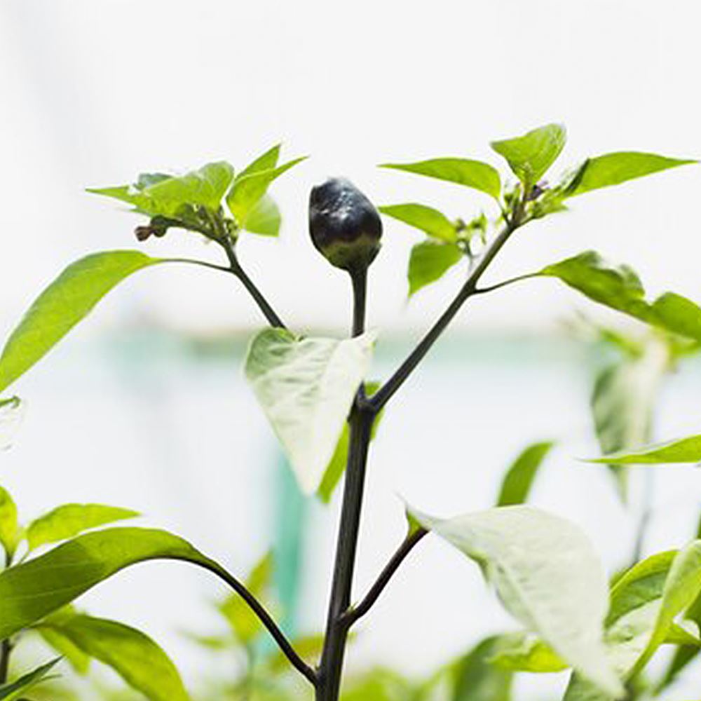
<instances>
[{"instance_id":1,"label":"wavy-edged green leaf on the right branch, reaching the right picture edge","mask_svg":"<svg viewBox=\"0 0 701 701\"><path fill-rule=\"evenodd\" d=\"M538 274L559 278L599 304L652 326L701 340L701 308L672 292L662 294L652 303L646 301L645 290L631 268L611 267L595 251L547 266Z\"/></svg>"}]
</instances>

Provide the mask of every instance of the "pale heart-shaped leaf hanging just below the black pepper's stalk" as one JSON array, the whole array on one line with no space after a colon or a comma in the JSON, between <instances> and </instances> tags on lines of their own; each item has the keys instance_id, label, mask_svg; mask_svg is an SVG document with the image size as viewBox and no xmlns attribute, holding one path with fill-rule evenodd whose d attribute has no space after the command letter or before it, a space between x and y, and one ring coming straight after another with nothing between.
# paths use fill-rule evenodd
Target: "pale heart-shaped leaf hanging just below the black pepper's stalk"
<instances>
[{"instance_id":1,"label":"pale heart-shaped leaf hanging just below the black pepper's stalk","mask_svg":"<svg viewBox=\"0 0 701 701\"><path fill-rule=\"evenodd\" d=\"M306 494L334 454L373 343L374 334L336 341L266 329L250 344L246 377Z\"/></svg>"}]
</instances>

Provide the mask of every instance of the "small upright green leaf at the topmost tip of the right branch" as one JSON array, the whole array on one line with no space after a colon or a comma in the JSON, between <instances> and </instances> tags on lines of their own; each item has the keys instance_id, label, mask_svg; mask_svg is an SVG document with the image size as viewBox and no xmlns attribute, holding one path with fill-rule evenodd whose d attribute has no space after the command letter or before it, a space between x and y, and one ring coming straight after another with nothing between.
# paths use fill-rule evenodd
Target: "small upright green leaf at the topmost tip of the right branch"
<instances>
[{"instance_id":1,"label":"small upright green leaf at the topmost tip of the right branch","mask_svg":"<svg viewBox=\"0 0 701 701\"><path fill-rule=\"evenodd\" d=\"M562 124L547 124L514 139L491 142L511 170L530 189L540 180L564 148L567 134Z\"/></svg>"}]
</instances>

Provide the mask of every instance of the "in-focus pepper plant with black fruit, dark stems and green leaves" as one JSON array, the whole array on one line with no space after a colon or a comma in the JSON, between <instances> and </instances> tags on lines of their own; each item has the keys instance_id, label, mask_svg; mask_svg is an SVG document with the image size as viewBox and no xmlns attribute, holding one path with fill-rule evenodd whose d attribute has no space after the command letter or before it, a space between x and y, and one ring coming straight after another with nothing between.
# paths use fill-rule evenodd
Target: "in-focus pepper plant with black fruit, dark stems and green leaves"
<instances>
[{"instance_id":1,"label":"in-focus pepper plant with black fruit, dark stems and green leaves","mask_svg":"<svg viewBox=\"0 0 701 701\"><path fill-rule=\"evenodd\" d=\"M8 568L0 574L0 639L9 641L3 651L5 663L18 634L50 626L57 620L56 612L65 611L91 587L137 562L175 559L205 569L229 585L271 634L310 694L317 701L336 701L351 630L371 613L404 559L428 533L477 562L503 606L522 625L522 632L502 639L494 650L491 646L496 643L491 641L490 655L510 669L571 669L566 701L631 698L660 645L697 645L697 635L677 619L688 613L701 591L701 540L678 552L637 562L609 587L597 554L578 526L522 503L536 469L533 465L547 451L543 446L517 462L495 508L446 519L426 515L420 505L407 506L406 537L369 590L360 597L353 590L365 473L379 416L471 299L496 294L529 278L550 278L675 338L701 341L701 308L693 301L673 292L648 299L632 268L611 266L597 252L586 251L538 271L484 283L503 247L526 226L535 227L538 219L566 210L597 189L694 162L622 151L588 158L553 179L548 174L565 142L565 130L557 124L494 142L491 146L508 165L510 175L468 158L383 166L480 191L496 205L491 219L475 213L454 220L423 203L392 203L378 210L344 179L330 179L313 188L312 243L348 274L351 283L350 333L340 339L301 336L288 329L238 257L242 236L278 234L280 212L268 188L302 159L279 165L280 147L274 147L240 172L229 163L210 163L182 176L150 173L134 184L94 189L145 217L135 232L138 240L184 229L214 243L223 260L154 258L137 250L118 250L76 261L41 293L8 339L0 358L0 392L13 386L104 294L133 273L157 265L195 264L231 275L268 323L250 342L245 374L299 486L306 494L327 499L344 475L327 623L320 654L308 658L287 638L254 587L186 540L139 527L82 533L90 524L81 524L66 531L57 547L20 564L13 564L8 555ZM426 240L411 251L410 294L461 261L465 261L465 277L404 362L388 378L371 385L367 376L378 334L366 329L366 290L370 266L381 250L380 212L426 233ZM16 409L18 400L4 401L4 411ZM611 447L608 440L602 440L602 445L605 450ZM626 442L615 446L625 452L597 459L607 465L697 460L700 446L699 437L662 447L636 446L633 451ZM641 606L641 601L646 605ZM95 636L99 639L100 632ZM463 691L470 698L470 677L465 680ZM165 698L158 690L141 690L151 698Z\"/></svg>"}]
</instances>

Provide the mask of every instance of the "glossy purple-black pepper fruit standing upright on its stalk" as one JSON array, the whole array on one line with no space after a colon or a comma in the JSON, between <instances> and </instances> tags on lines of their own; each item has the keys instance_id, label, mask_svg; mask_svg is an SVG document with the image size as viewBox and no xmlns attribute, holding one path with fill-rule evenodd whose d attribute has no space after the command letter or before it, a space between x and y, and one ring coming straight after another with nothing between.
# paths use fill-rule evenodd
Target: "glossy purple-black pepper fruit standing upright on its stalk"
<instances>
[{"instance_id":1,"label":"glossy purple-black pepper fruit standing upright on its stalk","mask_svg":"<svg viewBox=\"0 0 701 701\"><path fill-rule=\"evenodd\" d=\"M337 268L367 268L380 250L382 222L370 200L345 178L312 188L309 232L317 250Z\"/></svg>"}]
</instances>

